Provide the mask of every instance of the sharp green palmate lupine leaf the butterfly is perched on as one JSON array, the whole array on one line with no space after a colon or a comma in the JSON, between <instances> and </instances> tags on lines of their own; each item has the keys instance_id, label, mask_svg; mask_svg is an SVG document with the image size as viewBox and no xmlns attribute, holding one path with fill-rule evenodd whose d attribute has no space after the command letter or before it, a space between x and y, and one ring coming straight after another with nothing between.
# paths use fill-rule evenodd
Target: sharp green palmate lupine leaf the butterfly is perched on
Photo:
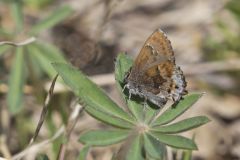
<instances>
[{"instance_id":1,"label":"sharp green palmate lupine leaf the butterfly is perched on","mask_svg":"<svg viewBox=\"0 0 240 160\"><path fill-rule=\"evenodd\" d=\"M115 78L120 91L124 87L124 77L131 65L132 61L126 55L120 54L118 56ZM65 83L80 98L80 104L85 107L90 115L115 127L125 128L113 132L90 131L80 136L81 142L88 146L105 146L125 141L122 146L122 149L125 150L122 152L124 154L121 154L120 150L113 157L113 159L119 159L120 156L124 160L141 160L146 157L152 160L161 160L165 155L166 145L188 150L197 149L193 140L179 135L172 135L172 133L190 130L203 125L209 121L206 117L193 117L171 125L167 124L189 109L202 94L185 96L177 106L169 107L156 119L153 118L160 109L145 106L150 108L150 110L146 110L141 104L141 100L128 99L128 96L123 94L132 115L130 116L77 69L63 63L54 63L53 66ZM134 133L134 136L132 133ZM143 153L143 148L145 153Z\"/></svg>"}]
</instances>

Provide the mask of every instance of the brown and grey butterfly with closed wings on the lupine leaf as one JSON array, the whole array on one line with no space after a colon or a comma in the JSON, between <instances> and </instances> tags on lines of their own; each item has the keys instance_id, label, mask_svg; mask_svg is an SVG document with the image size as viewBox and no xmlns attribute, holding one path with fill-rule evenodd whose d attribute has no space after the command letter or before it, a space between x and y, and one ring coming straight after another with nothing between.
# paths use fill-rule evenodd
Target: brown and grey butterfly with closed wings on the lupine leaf
<instances>
[{"instance_id":1,"label":"brown and grey butterfly with closed wings on the lupine leaf","mask_svg":"<svg viewBox=\"0 0 240 160\"><path fill-rule=\"evenodd\" d=\"M129 98L137 95L159 108L169 99L176 104L187 94L183 71L176 65L171 42L161 29L146 40L124 84Z\"/></svg>"}]
</instances>

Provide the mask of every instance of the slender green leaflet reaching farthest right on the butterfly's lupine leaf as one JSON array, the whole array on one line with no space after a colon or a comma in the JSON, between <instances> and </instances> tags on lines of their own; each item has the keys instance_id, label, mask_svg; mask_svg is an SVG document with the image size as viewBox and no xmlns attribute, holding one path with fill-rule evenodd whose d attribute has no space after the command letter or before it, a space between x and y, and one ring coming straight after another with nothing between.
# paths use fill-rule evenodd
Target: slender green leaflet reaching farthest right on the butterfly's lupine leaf
<instances>
[{"instance_id":1,"label":"slender green leaflet reaching farthest right on the butterfly's lupine leaf","mask_svg":"<svg viewBox=\"0 0 240 160\"><path fill-rule=\"evenodd\" d=\"M206 124L210 120L205 116L197 116L188 119L184 119L180 122L176 122L167 126L154 127L152 130L161 133L180 133L193 128L197 128L203 124Z\"/></svg>"}]
</instances>

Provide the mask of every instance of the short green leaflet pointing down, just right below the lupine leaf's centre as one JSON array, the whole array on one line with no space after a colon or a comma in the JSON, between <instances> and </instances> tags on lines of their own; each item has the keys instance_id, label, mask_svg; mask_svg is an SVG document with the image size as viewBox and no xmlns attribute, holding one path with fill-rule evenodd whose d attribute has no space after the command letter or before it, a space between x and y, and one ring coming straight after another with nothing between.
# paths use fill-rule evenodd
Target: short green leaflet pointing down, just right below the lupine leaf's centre
<instances>
[{"instance_id":1,"label":"short green leaflet pointing down, just right below the lupine leaf's centre","mask_svg":"<svg viewBox=\"0 0 240 160\"><path fill-rule=\"evenodd\" d=\"M144 135L144 149L149 158L163 160L166 156L166 146L147 134Z\"/></svg>"}]
</instances>

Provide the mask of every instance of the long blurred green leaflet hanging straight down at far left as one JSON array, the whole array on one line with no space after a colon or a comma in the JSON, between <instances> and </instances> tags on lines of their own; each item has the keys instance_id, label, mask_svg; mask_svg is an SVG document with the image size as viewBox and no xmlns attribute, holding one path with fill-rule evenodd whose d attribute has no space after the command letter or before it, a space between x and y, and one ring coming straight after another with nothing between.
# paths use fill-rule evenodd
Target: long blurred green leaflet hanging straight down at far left
<instances>
[{"instance_id":1,"label":"long blurred green leaflet hanging straight down at far left","mask_svg":"<svg viewBox=\"0 0 240 160\"><path fill-rule=\"evenodd\" d=\"M24 85L24 53L23 48L16 49L14 63L12 64L7 103L11 113L17 113L21 109L23 85Z\"/></svg>"}]
</instances>

